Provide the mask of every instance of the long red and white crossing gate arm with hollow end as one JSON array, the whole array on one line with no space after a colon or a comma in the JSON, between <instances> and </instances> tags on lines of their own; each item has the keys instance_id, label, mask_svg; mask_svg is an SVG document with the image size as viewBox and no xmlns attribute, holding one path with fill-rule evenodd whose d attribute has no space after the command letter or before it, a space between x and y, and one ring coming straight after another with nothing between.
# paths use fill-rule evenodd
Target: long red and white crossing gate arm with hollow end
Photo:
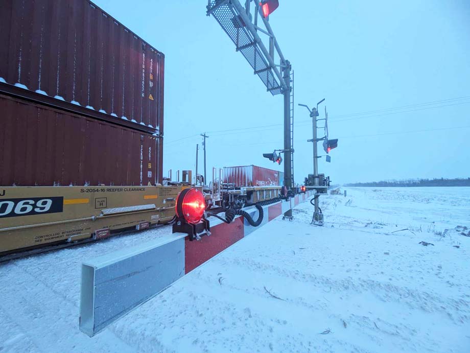
<instances>
[{"instance_id":1,"label":"long red and white crossing gate arm with hollow end","mask_svg":"<svg viewBox=\"0 0 470 353\"><path fill-rule=\"evenodd\" d=\"M313 191L289 201L263 206L260 227L313 196ZM247 212L257 218L252 207ZM184 233L166 234L151 242L93 258L82 263L80 330L93 336L108 324L168 288L256 228L243 217L227 224L211 219L210 236L190 241ZM254 234L253 234L254 235Z\"/></svg>"}]
</instances>

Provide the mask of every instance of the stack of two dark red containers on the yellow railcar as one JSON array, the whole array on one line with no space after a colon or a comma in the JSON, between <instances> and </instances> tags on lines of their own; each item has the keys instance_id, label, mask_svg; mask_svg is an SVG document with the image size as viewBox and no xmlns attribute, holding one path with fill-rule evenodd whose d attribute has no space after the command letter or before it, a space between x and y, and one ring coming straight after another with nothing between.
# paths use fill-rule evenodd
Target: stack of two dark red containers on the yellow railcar
<instances>
[{"instance_id":1,"label":"stack of two dark red containers on the yellow railcar","mask_svg":"<svg viewBox=\"0 0 470 353\"><path fill-rule=\"evenodd\" d=\"M0 185L161 182L165 56L86 1L2 1Z\"/></svg>"}]
</instances>

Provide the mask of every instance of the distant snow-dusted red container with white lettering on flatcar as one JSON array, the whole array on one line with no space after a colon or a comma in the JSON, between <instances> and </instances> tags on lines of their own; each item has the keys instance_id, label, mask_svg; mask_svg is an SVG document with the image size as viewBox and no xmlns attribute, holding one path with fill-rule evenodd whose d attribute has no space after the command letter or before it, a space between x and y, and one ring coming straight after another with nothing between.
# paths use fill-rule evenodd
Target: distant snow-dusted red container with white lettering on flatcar
<instances>
[{"instance_id":1,"label":"distant snow-dusted red container with white lettering on flatcar","mask_svg":"<svg viewBox=\"0 0 470 353\"><path fill-rule=\"evenodd\" d=\"M224 183L243 186L279 186L279 172L257 166L224 167Z\"/></svg>"}]
</instances>

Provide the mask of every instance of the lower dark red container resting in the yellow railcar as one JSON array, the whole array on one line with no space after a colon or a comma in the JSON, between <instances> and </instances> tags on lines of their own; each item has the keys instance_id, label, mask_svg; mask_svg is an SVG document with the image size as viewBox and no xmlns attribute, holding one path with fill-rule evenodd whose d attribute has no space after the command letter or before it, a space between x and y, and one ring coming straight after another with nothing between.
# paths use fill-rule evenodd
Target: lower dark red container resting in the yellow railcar
<instances>
[{"instance_id":1,"label":"lower dark red container resting in the yellow railcar","mask_svg":"<svg viewBox=\"0 0 470 353\"><path fill-rule=\"evenodd\" d=\"M0 95L0 185L161 182L161 139Z\"/></svg>"}]
</instances>

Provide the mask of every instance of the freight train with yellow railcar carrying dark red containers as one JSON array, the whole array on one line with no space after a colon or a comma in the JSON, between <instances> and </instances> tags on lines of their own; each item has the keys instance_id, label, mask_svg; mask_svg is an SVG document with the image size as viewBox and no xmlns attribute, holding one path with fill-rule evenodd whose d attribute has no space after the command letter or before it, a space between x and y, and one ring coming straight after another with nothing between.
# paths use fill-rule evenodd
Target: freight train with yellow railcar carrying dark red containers
<instances>
[{"instance_id":1,"label":"freight train with yellow railcar carrying dark red containers","mask_svg":"<svg viewBox=\"0 0 470 353\"><path fill-rule=\"evenodd\" d=\"M162 184L165 56L87 0L3 0L0 26L0 261L173 220L194 185ZM233 168L205 208L278 197Z\"/></svg>"}]
</instances>

